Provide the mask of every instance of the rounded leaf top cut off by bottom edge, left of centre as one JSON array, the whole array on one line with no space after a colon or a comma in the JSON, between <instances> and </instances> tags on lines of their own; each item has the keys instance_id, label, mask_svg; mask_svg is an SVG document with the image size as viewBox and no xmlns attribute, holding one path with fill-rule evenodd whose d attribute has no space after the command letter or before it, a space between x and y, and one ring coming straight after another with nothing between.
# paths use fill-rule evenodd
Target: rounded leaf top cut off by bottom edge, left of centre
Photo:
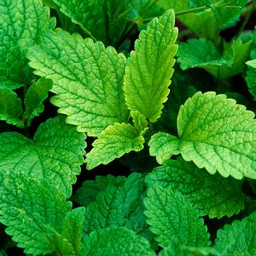
<instances>
[{"instance_id":1,"label":"rounded leaf top cut off by bottom edge, left of centre","mask_svg":"<svg viewBox=\"0 0 256 256\"><path fill-rule=\"evenodd\" d=\"M85 237L83 255L153 256L149 241L123 227L97 230Z\"/></svg>"}]
</instances>

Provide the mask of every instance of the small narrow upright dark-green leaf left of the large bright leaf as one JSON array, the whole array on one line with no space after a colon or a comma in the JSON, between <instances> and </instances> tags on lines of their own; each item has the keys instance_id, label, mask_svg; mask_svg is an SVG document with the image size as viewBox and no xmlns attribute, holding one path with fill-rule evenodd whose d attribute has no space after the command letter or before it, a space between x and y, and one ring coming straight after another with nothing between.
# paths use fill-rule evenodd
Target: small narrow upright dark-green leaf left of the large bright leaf
<instances>
[{"instance_id":1,"label":"small narrow upright dark-green leaf left of the large bright leaf","mask_svg":"<svg viewBox=\"0 0 256 256\"><path fill-rule=\"evenodd\" d=\"M26 120L28 126L31 126L34 117L38 117L43 112L43 101L48 97L48 92L52 87L52 80L40 78L28 88L24 100L25 112L23 114L23 119Z\"/></svg>"}]
</instances>

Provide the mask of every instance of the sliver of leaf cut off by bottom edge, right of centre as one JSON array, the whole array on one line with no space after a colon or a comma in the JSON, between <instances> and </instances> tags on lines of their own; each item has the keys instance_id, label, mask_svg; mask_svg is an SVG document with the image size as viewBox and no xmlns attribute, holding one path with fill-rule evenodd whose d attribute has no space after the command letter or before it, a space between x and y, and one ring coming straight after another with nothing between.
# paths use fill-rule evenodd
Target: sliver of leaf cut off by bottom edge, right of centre
<instances>
[{"instance_id":1,"label":"sliver of leaf cut off by bottom edge, right of centre","mask_svg":"<svg viewBox=\"0 0 256 256\"><path fill-rule=\"evenodd\" d=\"M191 247L180 245L176 240L171 240L171 245L161 250L159 256L221 256L213 247Z\"/></svg>"}]
</instances>

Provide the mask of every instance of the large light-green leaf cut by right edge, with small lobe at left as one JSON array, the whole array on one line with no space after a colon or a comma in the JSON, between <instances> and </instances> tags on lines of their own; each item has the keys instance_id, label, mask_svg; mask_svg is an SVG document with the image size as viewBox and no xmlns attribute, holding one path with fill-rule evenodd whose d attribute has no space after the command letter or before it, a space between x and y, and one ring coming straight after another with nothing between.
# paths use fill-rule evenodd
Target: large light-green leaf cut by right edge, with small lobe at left
<instances>
[{"instance_id":1,"label":"large light-green leaf cut by right edge, with small lobe at left","mask_svg":"<svg viewBox=\"0 0 256 256\"><path fill-rule=\"evenodd\" d=\"M158 133L149 141L150 154L161 164L181 153L210 174L256 178L255 114L215 92L197 92L178 113L178 138Z\"/></svg>"}]
</instances>

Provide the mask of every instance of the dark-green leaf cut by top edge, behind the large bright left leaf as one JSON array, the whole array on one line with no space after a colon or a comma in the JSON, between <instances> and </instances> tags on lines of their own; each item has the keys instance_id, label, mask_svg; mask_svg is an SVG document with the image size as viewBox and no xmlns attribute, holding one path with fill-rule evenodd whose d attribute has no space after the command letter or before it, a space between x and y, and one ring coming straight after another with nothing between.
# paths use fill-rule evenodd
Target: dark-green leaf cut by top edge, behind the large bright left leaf
<instances>
[{"instance_id":1,"label":"dark-green leaf cut by top edge, behind the large bright left leaf","mask_svg":"<svg viewBox=\"0 0 256 256\"><path fill-rule=\"evenodd\" d=\"M74 23L107 45L117 43L124 31L127 17L124 0L54 0L54 2Z\"/></svg>"}]
</instances>

